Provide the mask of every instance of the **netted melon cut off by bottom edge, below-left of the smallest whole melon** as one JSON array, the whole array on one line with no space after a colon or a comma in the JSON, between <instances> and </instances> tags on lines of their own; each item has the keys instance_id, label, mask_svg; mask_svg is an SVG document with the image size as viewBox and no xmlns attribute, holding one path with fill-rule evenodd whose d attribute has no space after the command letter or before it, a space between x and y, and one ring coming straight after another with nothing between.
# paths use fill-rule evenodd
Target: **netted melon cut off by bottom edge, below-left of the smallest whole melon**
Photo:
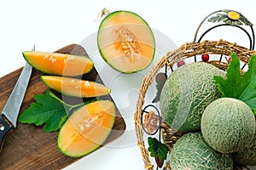
<instances>
[{"instance_id":1,"label":"netted melon cut off by bottom edge, below-left of the smallest whole melon","mask_svg":"<svg viewBox=\"0 0 256 170\"><path fill-rule=\"evenodd\" d=\"M232 170L230 154L221 154L207 144L201 133L186 133L173 145L170 154L172 170Z\"/></svg>"}]
</instances>

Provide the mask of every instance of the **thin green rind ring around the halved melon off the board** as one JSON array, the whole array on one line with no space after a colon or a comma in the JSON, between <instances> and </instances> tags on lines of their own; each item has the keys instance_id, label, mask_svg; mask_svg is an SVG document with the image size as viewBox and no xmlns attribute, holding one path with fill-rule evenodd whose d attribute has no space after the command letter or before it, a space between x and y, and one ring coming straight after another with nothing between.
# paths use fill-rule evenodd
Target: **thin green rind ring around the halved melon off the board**
<instances>
[{"instance_id":1,"label":"thin green rind ring around the halved melon off the board","mask_svg":"<svg viewBox=\"0 0 256 170\"><path fill-rule=\"evenodd\" d=\"M144 20L141 16L139 16L138 14L136 13L133 13L131 11L126 11L126 10L118 10L118 11L114 11L113 13L111 14L108 14L108 16L106 16L103 20L102 20L102 23L101 25L99 26L99 31L97 33L97 45L98 45L98 48L99 48L99 52L100 54L102 55L102 59L105 60L106 63L108 63L108 65L110 65L114 70L116 71L119 71L119 72L122 72L122 73L125 73L125 74L131 74L131 73L134 73L134 72L137 72L137 71L143 71L144 69L146 69L151 63L152 61L145 67L145 68L142 68L141 70L137 70L137 71L120 71L118 68L116 68L115 65L112 65L109 60L108 60L108 57L103 53L102 51L102 48L100 47L100 44L99 44L99 39L100 39L100 36L99 36L99 33L100 31L102 30L102 25L104 24L104 20L109 20L111 19L111 17L113 17L115 14L119 14L119 13L128 13L128 14L132 14L134 16L136 16L139 20L142 20L144 25L148 27L148 30L151 32L151 36L153 37L153 42L154 42L154 53L153 53L153 57L152 57L152 60L154 59L154 54L155 54L155 38L154 38L154 33L153 31L151 30L151 28L148 26L148 23L146 22L146 20Z\"/></svg>"}]
</instances>

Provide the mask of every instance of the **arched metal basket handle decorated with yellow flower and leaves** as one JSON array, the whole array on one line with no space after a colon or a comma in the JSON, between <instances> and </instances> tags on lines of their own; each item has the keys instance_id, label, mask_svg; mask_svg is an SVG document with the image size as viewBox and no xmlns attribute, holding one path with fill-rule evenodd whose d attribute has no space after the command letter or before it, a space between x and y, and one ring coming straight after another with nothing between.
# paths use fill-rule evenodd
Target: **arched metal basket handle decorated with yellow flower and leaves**
<instances>
[{"instance_id":1,"label":"arched metal basket handle decorated with yellow flower and leaves","mask_svg":"<svg viewBox=\"0 0 256 170\"><path fill-rule=\"evenodd\" d=\"M199 32L202 24L206 20L209 22L212 22L212 23L215 23L215 22L218 22L218 23L222 22L222 23L218 24L216 26L212 26L207 31L203 32L201 37L199 37L198 41L196 41L198 32ZM202 37L204 37L207 34L207 32L212 31L214 28L217 28L219 26L235 26L235 27L241 29L242 31L244 31L247 34L247 37L249 38L249 41L250 41L249 49L250 50L254 49L255 35L254 35L254 31L253 31L253 24L249 20L247 20L247 18L244 15L242 15L241 13L236 12L234 10L229 10L229 9L217 10L215 12L212 12L211 14L208 14L206 16L206 18L204 18L201 21L200 25L196 29L194 42L201 42ZM251 37L250 33L245 28L243 28L241 26L249 26L252 37Z\"/></svg>"}]
</instances>

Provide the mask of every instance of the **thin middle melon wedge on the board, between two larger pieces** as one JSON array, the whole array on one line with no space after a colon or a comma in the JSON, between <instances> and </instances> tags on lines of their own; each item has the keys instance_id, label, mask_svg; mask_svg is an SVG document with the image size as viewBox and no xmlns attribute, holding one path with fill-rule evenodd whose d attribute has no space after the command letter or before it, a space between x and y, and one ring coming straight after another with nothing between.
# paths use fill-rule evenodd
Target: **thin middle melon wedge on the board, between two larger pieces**
<instances>
[{"instance_id":1,"label":"thin middle melon wedge on the board, between two larger pieces","mask_svg":"<svg viewBox=\"0 0 256 170\"><path fill-rule=\"evenodd\" d=\"M90 98L110 94L111 91L110 88L106 88L100 83L71 77L41 76L41 80L49 88L75 97Z\"/></svg>"}]
</instances>

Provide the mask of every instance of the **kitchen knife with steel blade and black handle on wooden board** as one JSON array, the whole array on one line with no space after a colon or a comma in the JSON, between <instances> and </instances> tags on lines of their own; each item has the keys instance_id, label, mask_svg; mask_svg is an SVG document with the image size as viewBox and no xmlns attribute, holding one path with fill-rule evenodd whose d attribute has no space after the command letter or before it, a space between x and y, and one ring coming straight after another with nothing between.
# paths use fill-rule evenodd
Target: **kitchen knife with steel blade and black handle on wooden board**
<instances>
[{"instance_id":1,"label":"kitchen knife with steel blade and black handle on wooden board","mask_svg":"<svg viewBox=\"0 0 256 170\"><path fill-rule=\"evenodd\" d=\"M34 50L35 45L32 47L32 51ZM20 105L22 104L26 93L26 87L30 80L31 73L32 66L26 63L20 73L18 81L15 84L15 88L3 107L2 114L0 114L0 152L3 150L3 142L6 135L16 127L17 118L20 112Z\"/></svg>"}]
</instances>

